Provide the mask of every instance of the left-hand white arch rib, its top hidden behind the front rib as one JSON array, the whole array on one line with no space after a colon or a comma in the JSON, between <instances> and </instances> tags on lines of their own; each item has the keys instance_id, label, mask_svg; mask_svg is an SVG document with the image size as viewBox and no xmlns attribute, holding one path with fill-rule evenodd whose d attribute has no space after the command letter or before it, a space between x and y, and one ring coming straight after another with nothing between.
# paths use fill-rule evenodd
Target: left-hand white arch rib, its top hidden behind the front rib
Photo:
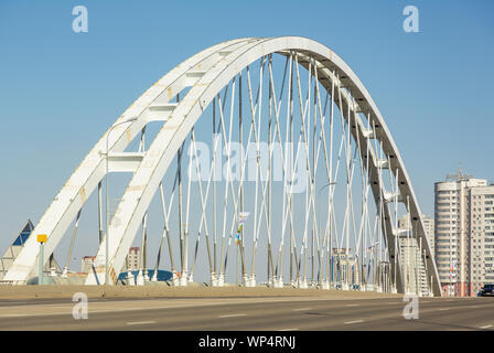
<instances>
[{"instance_id":1,"label":"left-hand white arch rib, its top hidden behind the front rib","mask_svg":"<svg viewBox=\"0 0 494 353\"><path fill-rule=\"evenodd\" d=\"M248 41L249 39L239 39L224 42L190 57L154 83L154 85L115 121L114 126L129 118L139 117L138 120L121 124L112 130L110 127L103 135L55 196L33 229L33 234L47 235L47 242L44 246L45 261L47 261L50 255L54 252L77 212L106 174L105 158L108 132L111 130L109 136L109 152L124 151L149 120L155 120L152 118L152 113L150 113L150 110L152 111L152 106L169 103L169 100L186 87L186 72L208 68L222 57L222 50L243 45ZM150 107L151 109L149 109ZM11 281L12 284L25 282L30 276L34 276L36 272L37 255L39 244L36 243L36 237L32 236L25 243L22 252L15 258L3 280Z\"/></svg>"}]
</instances>

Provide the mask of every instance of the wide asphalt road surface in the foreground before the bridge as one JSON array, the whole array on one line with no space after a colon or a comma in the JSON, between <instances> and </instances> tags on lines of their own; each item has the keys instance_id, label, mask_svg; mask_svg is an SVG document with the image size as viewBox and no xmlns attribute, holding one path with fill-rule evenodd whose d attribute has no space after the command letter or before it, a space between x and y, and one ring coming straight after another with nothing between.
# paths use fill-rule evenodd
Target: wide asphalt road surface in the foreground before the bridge
<instances>
[{"instance_id":1,"label":"wide asphalt road surface in the foreground before the bridge","mask_svg":"<svg viewBox=\"0 0 494 353\"><path fill-rule=\"evenodd\" d=\"M494 298L419 298L405 319L401 298L89 299L76 320L69 299L0 300L0 330L494 330Z\"/></svg>"}]
</instances>

